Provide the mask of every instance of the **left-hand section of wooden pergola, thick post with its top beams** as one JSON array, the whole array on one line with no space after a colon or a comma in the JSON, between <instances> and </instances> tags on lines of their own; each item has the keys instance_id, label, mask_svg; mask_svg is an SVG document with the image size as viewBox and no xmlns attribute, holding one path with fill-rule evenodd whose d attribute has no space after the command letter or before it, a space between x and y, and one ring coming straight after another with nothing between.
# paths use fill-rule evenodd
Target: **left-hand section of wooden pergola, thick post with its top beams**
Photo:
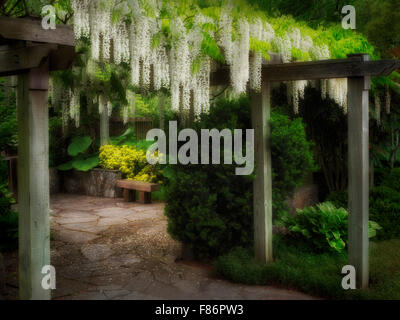
<instances>
[{"instance_id":1,"label":"left-hand section of wooden pergola, thick post with its top beams","mask_svg":"<svg viewBox=\"0 0 400 320\"><path fill-rule=\"evenodd\" d=\"M18 75L19 295L50 299L42 268L50 265L49 72L75 57L69 26L44 30L31 18L0 17L0 76Z\"/></svg>"}]
</instances>

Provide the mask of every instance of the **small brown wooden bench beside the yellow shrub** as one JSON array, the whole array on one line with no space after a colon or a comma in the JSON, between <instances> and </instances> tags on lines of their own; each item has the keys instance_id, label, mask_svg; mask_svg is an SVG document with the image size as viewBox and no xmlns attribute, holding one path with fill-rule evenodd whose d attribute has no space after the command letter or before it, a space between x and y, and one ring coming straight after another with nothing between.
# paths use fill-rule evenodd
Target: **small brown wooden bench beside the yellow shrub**
<instances>
[{"instance_id":1,"label":"small brown wooden bench beside the yellow shrub","mask_svg":"<svg viewBox=\"0 0 400 320\"><path fill-rule=\"evenodd\" d=\"M160 189L157 183L134 181L134 180L117 180L116 186L123 189L125 201L136 201L136 190L139 191L140 203L151 203L151 193Z\"/></svg>"}]
</instances>

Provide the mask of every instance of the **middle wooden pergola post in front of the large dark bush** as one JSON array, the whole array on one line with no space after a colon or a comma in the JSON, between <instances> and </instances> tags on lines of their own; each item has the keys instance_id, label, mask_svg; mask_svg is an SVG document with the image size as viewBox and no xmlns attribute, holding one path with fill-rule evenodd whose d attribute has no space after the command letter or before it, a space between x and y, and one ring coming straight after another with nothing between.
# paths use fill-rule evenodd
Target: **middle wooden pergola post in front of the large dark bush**
<instances>
[{"instance_id":1,"label":"middle wooden pergola post in front of the large dark bush","mask_svg":"<svg viewBox=\"0 0 400 320\"><path fill-rule=\"evenodd\" d=\"M270 82L251 92L256 178L254 192L254 250L262 263L272 262L272 170L270 149Z\"/></svg>"}]
</instances>

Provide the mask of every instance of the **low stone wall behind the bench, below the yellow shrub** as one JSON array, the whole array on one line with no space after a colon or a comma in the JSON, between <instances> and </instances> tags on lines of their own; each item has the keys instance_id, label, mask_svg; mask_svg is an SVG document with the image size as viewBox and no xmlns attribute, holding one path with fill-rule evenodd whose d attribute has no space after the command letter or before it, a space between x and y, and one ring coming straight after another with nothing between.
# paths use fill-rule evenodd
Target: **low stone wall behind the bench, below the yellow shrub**
<instances>
[{"instance_id":1,"label":"low stone wall behind the bench, below the yellow shrub","mask_svg":"<svg viewBox=\"0 0 400 320\"><path fill-rule=\"evenodd\" d=\"M94 197L122 197L122 190L115 187L118 179L121 179L121 173L117 170L93 169L88 172L71 170L62 173L64 192Z\"/></svg>"}]
</instances>

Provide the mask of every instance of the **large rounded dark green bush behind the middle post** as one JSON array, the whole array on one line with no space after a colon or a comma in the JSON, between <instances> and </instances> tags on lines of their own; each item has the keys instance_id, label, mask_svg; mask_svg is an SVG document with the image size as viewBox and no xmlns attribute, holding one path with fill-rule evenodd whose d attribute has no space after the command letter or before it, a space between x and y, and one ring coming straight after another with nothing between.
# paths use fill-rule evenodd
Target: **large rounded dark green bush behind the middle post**
<instances>
[{"instance_id":1,"label":"large rounded dark green bush behind the middle post","mask_svg":"<svg viewBox=\"0 0 400 320\"><path fill-rule=\"evenodd\" d=\"M273 209L277 215L284 210L289 190L313 168L313 161L299 120L290 121L273 112L271 123ZM219 100L194 127L251 128L249 100ZM238 176L235 167L177 164L164 170L168 231L199 258L215 257L235 246L247 247L253 241L253 176Z\"/></svg>"}]
</instances>

